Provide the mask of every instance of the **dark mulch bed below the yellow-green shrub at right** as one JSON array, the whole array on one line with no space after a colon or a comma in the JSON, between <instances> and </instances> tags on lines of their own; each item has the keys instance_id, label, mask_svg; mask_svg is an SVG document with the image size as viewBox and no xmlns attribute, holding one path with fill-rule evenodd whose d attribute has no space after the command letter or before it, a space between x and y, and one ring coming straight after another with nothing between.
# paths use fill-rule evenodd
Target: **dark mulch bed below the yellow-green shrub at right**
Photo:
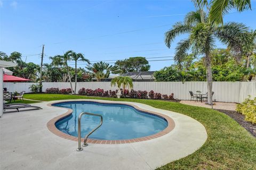
<instances>
[{"instance_id":1,"label":"dark mulch bed below the yellow-green shrub at right","mask_svg":"<svg viewBox=\"0 0 256 170\"><path fill-rule=\"evenodd\" d=\"M244 120L244 115L237 113L236 111L226 111L221 109L215 109L216 111L225 113L226 115L233 118L237 123L243 126L247 131L249 131L254 137L256 137L256 124L252 124Z\"/></svg>"}]
</instances>

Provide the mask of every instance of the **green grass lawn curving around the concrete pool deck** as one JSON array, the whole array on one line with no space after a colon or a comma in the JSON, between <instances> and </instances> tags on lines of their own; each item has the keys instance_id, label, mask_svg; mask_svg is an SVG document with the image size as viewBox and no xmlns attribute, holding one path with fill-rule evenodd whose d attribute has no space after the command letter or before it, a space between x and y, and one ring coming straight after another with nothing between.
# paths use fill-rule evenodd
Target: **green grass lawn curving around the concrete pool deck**
<instances>
[{"instance_id":1,"label":"green grass lawn curving around the concrete pool deck","mask_svg":"<svg viewBox=\"0 0 256 170\"><path fill-rule=\"evenodd\" d=\"M195 118L205 126L208 139L193 154L158 169L256 169L256 138L229 116L209 108L161 100L116 99L76 95L26 94L25 98L43 101L61 99L134 101L185 114Z\"/></svg>"}]
</instances>

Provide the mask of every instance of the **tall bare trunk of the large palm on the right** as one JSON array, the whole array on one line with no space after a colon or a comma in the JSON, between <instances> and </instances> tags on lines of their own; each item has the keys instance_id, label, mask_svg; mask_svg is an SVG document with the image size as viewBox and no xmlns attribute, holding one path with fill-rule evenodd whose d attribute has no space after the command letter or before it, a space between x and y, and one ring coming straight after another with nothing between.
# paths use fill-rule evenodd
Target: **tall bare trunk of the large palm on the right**
<instances>
[{"instance_id":1,"label":"tall bare trunk of the large palm on the right","mask_svg":"<svg viewBox=\"0 0 256 170\"><path fill-rule=\"evenodd\" d=\"M206 82L207 82L207 103L212 105L212 64L211 56L209 54L205 55L205 65L206 65Z\"/></svg>"}]
</instances>

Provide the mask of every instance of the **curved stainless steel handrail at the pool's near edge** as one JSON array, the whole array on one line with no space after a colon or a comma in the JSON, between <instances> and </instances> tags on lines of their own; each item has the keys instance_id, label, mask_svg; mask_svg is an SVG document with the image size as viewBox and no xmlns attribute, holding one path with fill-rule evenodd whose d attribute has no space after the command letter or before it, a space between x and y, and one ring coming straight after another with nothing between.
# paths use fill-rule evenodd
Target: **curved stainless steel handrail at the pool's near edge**
<instances>
[{"instance_id":1,"label":"curved stainless steel handrail at the pool's near edge","mask_svg":"<svg viewBox=\"0 0 256 170\"><path fill-rule=\"evenodd\" d=\"M103 122L103 118L102 118L102 116L99 115L99 114L82 112L82 113L79 115L79 118L78 118L78 148L76 149L77 151L82 151L82 150L83 150L83 148L81 147L81 118L82 118L83 115L93 115L93 116L99 116L99 117L100 117L100 124L85 136L83 147L88 146L88 144L86 143L86 141L87 141L89 135L91 135L95 130L97 130L98 128L100 128L100 126L102 125L102 122Z\"/></svg>"}]
</instances>

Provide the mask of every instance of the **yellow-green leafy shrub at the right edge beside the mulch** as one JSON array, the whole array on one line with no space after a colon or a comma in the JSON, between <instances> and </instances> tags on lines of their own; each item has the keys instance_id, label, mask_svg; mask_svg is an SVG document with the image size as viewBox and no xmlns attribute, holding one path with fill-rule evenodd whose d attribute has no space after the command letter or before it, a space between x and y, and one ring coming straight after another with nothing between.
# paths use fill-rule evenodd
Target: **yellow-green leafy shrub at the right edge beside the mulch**
<instances>
[{"instance_id":1,"label":"yellow-green leafy shrub at the right edge beside the mulch","mask_svg":"<svg viewBox=\"0 0 256 170\"><path fill-rule=\"evenodd\" d=\"M256 124L256 97L245 99L243 103L236 106L236 111L245 115L245 121Z\"/></svg>"}]
</instances>

